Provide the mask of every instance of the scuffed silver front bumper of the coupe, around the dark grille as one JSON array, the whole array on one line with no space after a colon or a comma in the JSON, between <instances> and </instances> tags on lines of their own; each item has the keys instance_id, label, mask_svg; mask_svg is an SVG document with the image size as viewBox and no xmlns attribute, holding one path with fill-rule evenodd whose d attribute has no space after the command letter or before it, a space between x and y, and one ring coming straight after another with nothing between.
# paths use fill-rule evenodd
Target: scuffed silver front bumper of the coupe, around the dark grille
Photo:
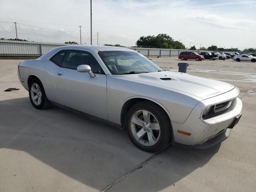
<instances>
[{"instance_id":1,"label":"scuffed silver front bumper of the coupe, around the dark grille","mask_svg":"<svg viewBox=\"0 0 256 192\"><path fill-rule=\"evenodd\" d=\"M174 142L188 146L197 146L212 140L222 132L227 132L227 129L230 128L236 118L242 114L242 101L237 98L238 94L239 90L234 88L229 92L202 101L207 106L210 103L217 103L216 100L218 102L233 100L230 108L223 114L203 120L201 118L202 106L199 103L184 123L172 122ZM178 130L191 133L191 135L180 134ZM221 142L221 140L218 141Z\"/></svg>"}]
</instances>

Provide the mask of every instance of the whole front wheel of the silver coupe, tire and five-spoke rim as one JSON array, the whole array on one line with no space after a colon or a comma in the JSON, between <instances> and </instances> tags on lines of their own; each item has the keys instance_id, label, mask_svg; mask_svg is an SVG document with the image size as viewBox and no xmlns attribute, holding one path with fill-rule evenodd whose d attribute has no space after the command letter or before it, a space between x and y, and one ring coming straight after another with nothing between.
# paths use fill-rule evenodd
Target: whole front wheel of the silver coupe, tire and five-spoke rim
<instances>
[{"instance_id":1,"label":"whole front wheel of the silver coupe, tire and five-spoke rim","mask_svg":"<svg viewBox=\"0 0 256 192\"><path fill-rule=\"evenodd\" d=\"M138 102L128 111L128 135L132 143L147 152L170 144L171 123L165 111L151 102Z\"/></svg>"}]
</instances>

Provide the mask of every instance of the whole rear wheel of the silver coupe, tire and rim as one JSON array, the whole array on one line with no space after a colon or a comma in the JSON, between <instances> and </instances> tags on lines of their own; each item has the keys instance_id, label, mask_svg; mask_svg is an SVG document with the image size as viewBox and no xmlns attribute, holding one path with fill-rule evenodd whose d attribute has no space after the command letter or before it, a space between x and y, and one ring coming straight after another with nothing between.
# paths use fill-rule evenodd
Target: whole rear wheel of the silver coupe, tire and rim
<instances>
[{"instance_id":1,"label":"whole rear wheel of the silver coupe, tire and rim","mask_svg":"<svg viewBox=\"0 0 256 192\"><path fill-rule=\"evenodd\" d=\"M29 85L29 98L32 105L37 109L46 109L50 106L40 80L33 79Z\"/></svg>"}]
</instances>

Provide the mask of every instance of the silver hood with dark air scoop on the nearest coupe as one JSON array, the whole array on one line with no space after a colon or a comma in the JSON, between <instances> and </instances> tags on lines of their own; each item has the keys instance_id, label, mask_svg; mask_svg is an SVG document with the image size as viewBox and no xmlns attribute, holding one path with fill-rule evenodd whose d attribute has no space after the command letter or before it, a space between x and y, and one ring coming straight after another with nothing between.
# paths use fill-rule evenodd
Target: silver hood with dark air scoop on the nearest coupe
<instances>
[{"instance_id":1,"label":"silver hood with dark air scoop on the nearest coupe","mask_svg":"<svg viewBox=\"0 0 256 192\"><path fill-rule=\"evenodd\" d=\"M122 76L135 82L144 82L152 84L153 86L166 87L186 92L203 100L228 92L235 87L218 80L170 71L128 74Z\"/></svg>"}]
</instances>

